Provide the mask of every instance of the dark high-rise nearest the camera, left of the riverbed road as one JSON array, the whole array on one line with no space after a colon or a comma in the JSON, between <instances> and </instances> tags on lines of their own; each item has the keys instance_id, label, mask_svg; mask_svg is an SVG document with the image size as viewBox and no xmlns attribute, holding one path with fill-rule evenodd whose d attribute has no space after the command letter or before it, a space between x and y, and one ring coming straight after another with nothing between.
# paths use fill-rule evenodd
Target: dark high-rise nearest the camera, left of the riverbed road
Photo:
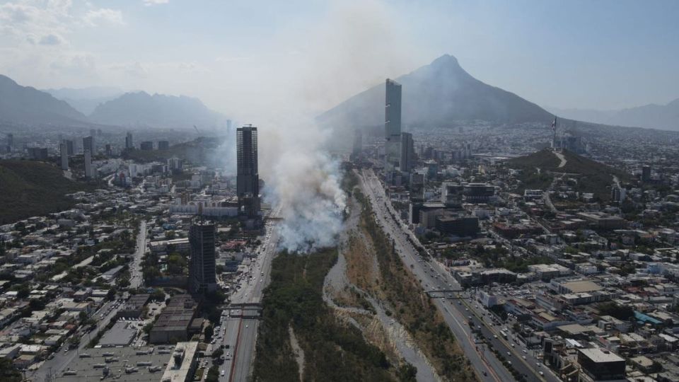
<instances>
[{"instance_id":1,"label":"dark high-rise nearest the camera, left of the riverbed road","mask_svg":"<svg viewBox=\"0 0 679 382\"><path fill-rule=\"evenodd\" d=\"M189 290L201 294L217 289L215 273L215 236L214 224L199 221L191 225L189 244L191 259L189 264Z\"/></svg>"}]
</instances>

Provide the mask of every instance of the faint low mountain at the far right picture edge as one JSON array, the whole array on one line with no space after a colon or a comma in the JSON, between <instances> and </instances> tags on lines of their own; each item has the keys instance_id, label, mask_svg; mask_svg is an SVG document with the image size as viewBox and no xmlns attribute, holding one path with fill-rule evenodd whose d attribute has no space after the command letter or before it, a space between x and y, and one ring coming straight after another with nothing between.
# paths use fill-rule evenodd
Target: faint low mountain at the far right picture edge
<instances>
[{"instance_id":1,"label":"faint low mountain at the far right picture edge","mask_svg":"<svg viewBox=\"0 0 679 382\"><path fill-rule=\"evenodd\" d=\"M679 98L667 105L644 105L622 110L549 109L573 120L679 131Z\"/></svg>"}]
</instances>

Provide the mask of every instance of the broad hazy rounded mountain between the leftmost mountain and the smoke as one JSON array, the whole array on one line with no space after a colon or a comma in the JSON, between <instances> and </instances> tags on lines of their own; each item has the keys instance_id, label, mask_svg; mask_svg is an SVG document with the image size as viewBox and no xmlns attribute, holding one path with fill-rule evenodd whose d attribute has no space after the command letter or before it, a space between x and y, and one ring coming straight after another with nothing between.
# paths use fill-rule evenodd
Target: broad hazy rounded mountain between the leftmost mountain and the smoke
<instances>
[{"instance_id":1,"label":"broad hazy rounded mountain between the leftmost mountain and the smoke","mask_svg":"<svg viewBox=\"0 0 679 382\"><path fill-rule=\"evenodd\" d=\"M98 105L90 120L108 125L149 127L214 127L226 121L224 115L209 110L197 98L164 96L140 91Z\"/></svg>"}]
</instances>

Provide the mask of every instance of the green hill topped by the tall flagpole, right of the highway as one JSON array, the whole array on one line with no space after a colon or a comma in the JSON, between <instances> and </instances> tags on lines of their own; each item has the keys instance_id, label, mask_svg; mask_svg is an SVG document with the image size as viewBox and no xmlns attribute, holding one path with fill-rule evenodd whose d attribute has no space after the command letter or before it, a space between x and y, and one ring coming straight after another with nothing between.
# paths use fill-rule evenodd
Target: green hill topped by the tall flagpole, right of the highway
<instances>
[{"instance_id":1,"label":"green hill topped by the tall flagpole, right of the highway","mask_svg":"<svg viewBox=\"0 0 679 382\"><path fill-rule=\"evenodd\" d=\"M578 180L577 190L593 192L602 200L610 199L610 185L613 176L621 182L629 181L629 175L617 168L579 156L571 151L563 152L566 164L559 167L561 161L550 149L537 151L528 156L521 156L507 161L509 168L521 170L519 177L523 183L518 191L525 189L544 190L549 187L554 177L553 173L568 173L569 177ZM538 172L538 168L540 171Z\"/></svg>"}]
</instances>

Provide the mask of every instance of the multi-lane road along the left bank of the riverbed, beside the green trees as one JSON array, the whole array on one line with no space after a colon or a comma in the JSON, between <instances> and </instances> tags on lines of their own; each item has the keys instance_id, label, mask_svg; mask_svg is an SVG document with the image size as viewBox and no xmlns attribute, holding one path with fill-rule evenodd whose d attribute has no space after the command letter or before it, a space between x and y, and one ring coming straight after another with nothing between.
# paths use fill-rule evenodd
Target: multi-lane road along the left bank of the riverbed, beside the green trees
<instances>
[{"instance_id":1,"label":"multi-lane road along the left bank of the riverbed, beside the green trees","mask_svg":"<svg viewBox=\"0 0 679 382\"><path fill-rule=\"evenodd\" d=\"M272 211L270 216L279 216L281 207ZM250 264L248 274L243 277L240 289L231 295L231 304L260 303L262 293L269 284L271 277L271 262L278 245L278 233L274 229L274 222L269 220L265 226L265 234L260 237L262 244L257 248L257 257ZM250 279L248 276L252 276ZM219 332L215 332L216 342L210 351L229 345L224 349L224 364L219 366L219 381L246 381L252 373L255 359L255 344L257 342L258 318L233 317L229 313L236 310L225 310L221 318ZM222 375L223 374L223 375Z\"/></svg>"}]
</instances>

